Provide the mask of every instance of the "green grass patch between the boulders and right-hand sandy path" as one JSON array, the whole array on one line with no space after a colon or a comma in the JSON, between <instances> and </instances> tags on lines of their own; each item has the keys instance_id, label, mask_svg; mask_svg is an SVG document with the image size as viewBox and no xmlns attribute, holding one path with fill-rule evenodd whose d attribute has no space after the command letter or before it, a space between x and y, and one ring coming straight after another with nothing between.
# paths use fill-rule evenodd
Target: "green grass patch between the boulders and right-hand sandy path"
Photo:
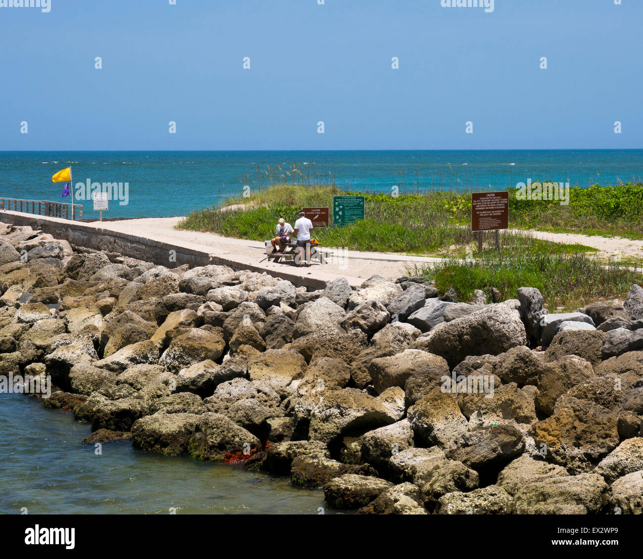
<instances>
[{"instance_id":1,"label":"green grass patch between the boulders and right-hand sandy path","mask_svg":"<svg viewBox=\"0 0 643 559\"><path fill-rule=\"evenodd\" d=\"M487 253L471 262L444 261L408 271L434 280L440 293L453 286L462 301L471 300L475 289L482 289L491 300L491 288L496 288L501 300L506 300L516 298L520 287L538 288L552 311L556 307L573 311L588 301L622 298L632 284L643 281L641 270L604 264L583 253L514 253L504 255L502 261Z\"/></svg>"}]
</instances>

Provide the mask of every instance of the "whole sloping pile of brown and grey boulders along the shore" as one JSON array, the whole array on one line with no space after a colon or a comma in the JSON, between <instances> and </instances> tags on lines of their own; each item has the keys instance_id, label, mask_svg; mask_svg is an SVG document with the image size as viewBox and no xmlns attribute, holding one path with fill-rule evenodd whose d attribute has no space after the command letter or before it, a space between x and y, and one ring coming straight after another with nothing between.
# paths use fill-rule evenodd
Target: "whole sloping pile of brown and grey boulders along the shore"
<instances>
[{"instance_id":1,"label":"whole sloping pile of brown and grey boulders along the shore","mask_svg":"<svg viewBox=\"0 0 643 559\"><path fill-rule=\"evenodd\" d=\"M639 286L549 314L529 287L167 264L0 224L0 375L50 376L87 443L242 462L332 508L642 513Z\"/></svg>"}]
</instances>

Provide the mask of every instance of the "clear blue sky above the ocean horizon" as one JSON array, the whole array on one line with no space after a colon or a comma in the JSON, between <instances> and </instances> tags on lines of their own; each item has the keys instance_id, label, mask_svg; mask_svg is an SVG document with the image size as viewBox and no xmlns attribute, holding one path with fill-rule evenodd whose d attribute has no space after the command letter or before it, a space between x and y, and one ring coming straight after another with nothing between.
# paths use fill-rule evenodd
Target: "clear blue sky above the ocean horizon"
<instances>
[{"instance_id":1,"label":"clear blue sky above the ocean horizon","mask_svg":"<svg viewBox=\"0 0 643 559\"><path fill-rule=\"evenodd\" d=\"M0 8L0 150L643 147L641 0L50 1Z\"/></svg>"}]
</instances>

